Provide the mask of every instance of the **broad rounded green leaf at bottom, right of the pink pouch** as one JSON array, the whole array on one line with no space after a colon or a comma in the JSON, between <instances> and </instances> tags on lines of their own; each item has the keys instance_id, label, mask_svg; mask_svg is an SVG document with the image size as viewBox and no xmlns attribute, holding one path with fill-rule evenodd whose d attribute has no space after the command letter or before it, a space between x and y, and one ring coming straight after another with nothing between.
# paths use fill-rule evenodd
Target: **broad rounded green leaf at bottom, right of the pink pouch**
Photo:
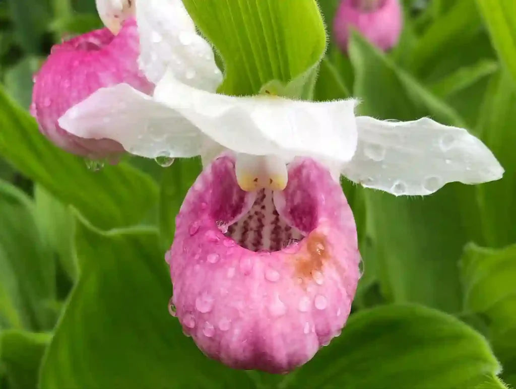
<instances>
[{"instance_id":1,"label":"broad rounded green leaf at bottom, right of the pink pouch","mask_svg":"<svg viewBox=\"0 0 516 389\"><path fill-rule=\"evenodd\" d=\"M280 388L503 388L499 370L487 341L456 318L391 305L351 315L342 335Z\"/></svg>"}]
</instances>

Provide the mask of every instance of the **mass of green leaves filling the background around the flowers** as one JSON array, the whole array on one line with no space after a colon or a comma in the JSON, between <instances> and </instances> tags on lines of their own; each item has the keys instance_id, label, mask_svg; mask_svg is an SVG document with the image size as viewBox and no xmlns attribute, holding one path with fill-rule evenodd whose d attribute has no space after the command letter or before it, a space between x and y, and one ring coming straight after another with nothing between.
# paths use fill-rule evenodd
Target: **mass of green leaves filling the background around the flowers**
<instances>
[{"instance_id":1,"label":"mass of green leaves filling the background around the flowers","mask_svg":"<svg viewBox=\"0 0 516 389\"><path fill-rule=\"evenodd\" d=\"M330 27L338 2L318 3ZM0 388L516 386L516 2L402 3L389 53L330 36L314 99L463 126L506 173L425 198L343 182L365 267L353 313L276 377L208 360L168 315L164 252L199 161L92 172L28 115L51 46L102 26L94 1L0 0Z\"/></svg>"}]
</instances>

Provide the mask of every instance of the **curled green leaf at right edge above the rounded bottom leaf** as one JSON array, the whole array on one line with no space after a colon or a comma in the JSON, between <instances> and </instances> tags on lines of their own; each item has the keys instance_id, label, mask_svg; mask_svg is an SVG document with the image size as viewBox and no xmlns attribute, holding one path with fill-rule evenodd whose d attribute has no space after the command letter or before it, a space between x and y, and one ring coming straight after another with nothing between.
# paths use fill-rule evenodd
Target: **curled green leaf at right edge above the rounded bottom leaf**
<instances>
[{"instance_id":1,"label":"curled green leaf at right edge above the rounded bottom leaf","mask_svg":"<svg viewBox=\"0 0 516 389\"><path fill-rule=\"evenodd\" d=\"M487 318L504 378L516 385L516 245L500 250L467 246L461 273L465 309Z\"/></svg>"}]
</instances>

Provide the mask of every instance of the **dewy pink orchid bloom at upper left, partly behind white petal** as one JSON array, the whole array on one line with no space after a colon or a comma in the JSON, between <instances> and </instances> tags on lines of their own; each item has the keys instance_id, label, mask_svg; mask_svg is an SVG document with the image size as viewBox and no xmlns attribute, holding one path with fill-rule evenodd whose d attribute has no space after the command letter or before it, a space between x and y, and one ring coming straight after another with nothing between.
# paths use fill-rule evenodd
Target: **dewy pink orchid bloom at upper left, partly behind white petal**
<instances>
[{"instance_id":1,"label":"dewy pink orchid bloom at upper left, partly behind white petal","mask_svg":"<svg viewBox=\"0 0 516 389\"><path fill-rule=\"evenodd\" d=\"M100 16L111 30L102 28L56 44L34 78L30 111L41 132L58 147L93 159L112 158L124 149L112 139L74 136L59 126L59 117L102 87L127 83L144 93L153 90L138 69L138 31L131 8L120 3L117 10L117 1L121 2L97 0ZM130 19L124 22L126 17Z\"/></svg>"}]
</instances>

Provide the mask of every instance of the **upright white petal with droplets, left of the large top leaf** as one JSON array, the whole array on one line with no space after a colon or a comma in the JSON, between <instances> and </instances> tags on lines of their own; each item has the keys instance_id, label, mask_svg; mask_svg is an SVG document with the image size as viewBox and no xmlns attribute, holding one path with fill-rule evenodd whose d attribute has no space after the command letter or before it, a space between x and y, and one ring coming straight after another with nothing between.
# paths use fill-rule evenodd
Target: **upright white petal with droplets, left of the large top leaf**
<instances>
[{"instance_id":1,"label":"upright white petal with droplets, left of the large top leaf","mask_svg":"<svg viewBox=\"0 0 516 389\"><path fill-rule=\"evenodd\" d=\"M167 68L185 84L215 91L222 74L212 47L201 36L181 0L138 0L139 64L157 83Z\"/></svg>"}]
</instances>

